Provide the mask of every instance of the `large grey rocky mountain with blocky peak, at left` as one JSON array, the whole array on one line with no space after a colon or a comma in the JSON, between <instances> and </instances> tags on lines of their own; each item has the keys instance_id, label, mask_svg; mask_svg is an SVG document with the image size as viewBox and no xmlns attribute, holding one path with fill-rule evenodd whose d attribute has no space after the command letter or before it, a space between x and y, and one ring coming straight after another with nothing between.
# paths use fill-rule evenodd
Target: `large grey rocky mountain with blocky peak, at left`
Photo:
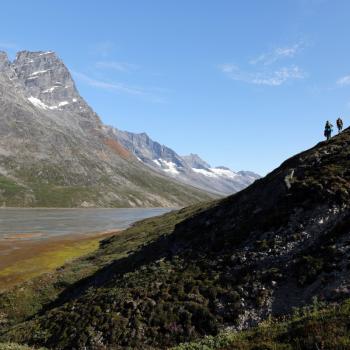
<instances>
[{"instance_id":1,"label":"large grey rocky mountain with blocky peak, at left","mask_svg":"<svg viewBox=\"0 0 350 350\"><path fill-rule=\"evenodd\" d=\"M213 198L105 132L54 52L0 53L0 205L183 206Z\"/></svg>"}]
</instances>

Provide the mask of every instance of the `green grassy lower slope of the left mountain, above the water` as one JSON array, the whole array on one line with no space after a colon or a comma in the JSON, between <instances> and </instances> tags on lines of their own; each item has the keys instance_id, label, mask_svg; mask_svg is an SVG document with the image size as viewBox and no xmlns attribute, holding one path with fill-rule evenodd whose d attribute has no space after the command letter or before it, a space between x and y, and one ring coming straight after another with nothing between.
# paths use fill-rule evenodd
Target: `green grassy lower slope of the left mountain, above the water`
<instances>
[{"instance_id":1,"label":"green grassy lower slope of the left mountain, above the water","mask_svg":"<svg viewBox=\"0 0 350 350\"><path fill-rule=\"evenodd\" d=\"M115 184L106 176L98 183L85 183L86 179L75 178L69 170L38 164L18 170L19 182L0 176L0 205L73 208L86 201L96 206L127 208L133 203L133 206L160 207L164 201L166 206L183 206L213 198L204 191L143 169L123 174L132 183L127 186Z\"/></svg>"}]
</instances>

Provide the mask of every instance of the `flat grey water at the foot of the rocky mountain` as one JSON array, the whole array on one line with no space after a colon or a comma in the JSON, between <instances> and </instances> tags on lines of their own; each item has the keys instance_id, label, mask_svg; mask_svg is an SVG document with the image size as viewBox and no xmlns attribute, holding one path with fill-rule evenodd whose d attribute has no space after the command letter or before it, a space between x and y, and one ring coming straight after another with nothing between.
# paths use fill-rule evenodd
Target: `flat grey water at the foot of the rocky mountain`
<instances>
[{"instance_id":1,"label":"flat grey water at the foot of the rocky mountain","mask_svg":"<svg viewBox=\"0 0 350 350\"><path fill-rule=\"evenodd\" d=\"M13 234L41 237L123 229L170 211L151 209L0 209L0 239Z\"/></svg>"}]
</instances>

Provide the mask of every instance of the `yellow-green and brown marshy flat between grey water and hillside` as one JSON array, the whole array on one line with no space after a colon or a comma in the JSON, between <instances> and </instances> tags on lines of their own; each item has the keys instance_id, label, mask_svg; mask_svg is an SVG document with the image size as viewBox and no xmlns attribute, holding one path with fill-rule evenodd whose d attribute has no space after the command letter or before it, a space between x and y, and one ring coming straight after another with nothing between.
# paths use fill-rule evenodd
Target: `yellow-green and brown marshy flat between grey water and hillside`
<instances>
[{"instance_id":1,"label":"yellow-green and brown marshy flat between grey water and hillside","mask_svg":"<svg viewBox=\"0 0 350 350\"><path fill-rule=\"evenodd\" d=\"M100 241L124 229L30 239L0 239L0 293L97 250ZM24 237L23 237L24 236ZM29 238L29 239L28 239Z\"/></svg>"}]
</instances>

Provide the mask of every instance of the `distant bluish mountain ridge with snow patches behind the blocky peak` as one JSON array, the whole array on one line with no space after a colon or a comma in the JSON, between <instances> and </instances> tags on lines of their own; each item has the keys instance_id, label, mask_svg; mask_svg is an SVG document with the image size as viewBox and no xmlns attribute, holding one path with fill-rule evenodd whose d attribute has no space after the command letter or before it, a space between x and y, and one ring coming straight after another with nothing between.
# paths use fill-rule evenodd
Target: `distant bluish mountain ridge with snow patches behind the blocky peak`
<instances>
[{"instance_id":1,"label":"distant bluish mountain ridge with snow patches behind the blocky peak","mask_svg":"<svg viewBox=\"0 0 350 350\"><path fill-rule=\"evenodd\" d=\"M110 138L118 141L137 159L152 169L184 184L220 196L236 193L260 176L249 171L234 172L226 167L211 167L196 154L179 156L175 151L153 141L146 133L135 134L105 126Z\"/></svg>"}]
</instances>

